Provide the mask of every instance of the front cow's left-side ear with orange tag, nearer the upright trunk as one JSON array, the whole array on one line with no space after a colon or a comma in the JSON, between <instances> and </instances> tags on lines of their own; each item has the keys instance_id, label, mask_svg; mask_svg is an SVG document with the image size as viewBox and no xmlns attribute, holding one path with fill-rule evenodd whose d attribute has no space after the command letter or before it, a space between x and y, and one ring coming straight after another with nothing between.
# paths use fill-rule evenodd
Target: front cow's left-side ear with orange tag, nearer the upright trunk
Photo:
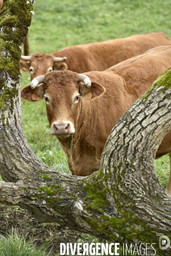
<instances>
[{"instance_id":1,"label":"front cow's left-side ear with orange tag, nearer the upright trunk","mask_svg":"<svg viewBox=\"0 0 171 256\"><path fill-rule=\"evenodd\" d=\"M29 102L36 102L43 99L44 84L39 84L35 89L31 89L30 85L25 86L21 90L21 98Z\"/></svg>"}]
</instances>

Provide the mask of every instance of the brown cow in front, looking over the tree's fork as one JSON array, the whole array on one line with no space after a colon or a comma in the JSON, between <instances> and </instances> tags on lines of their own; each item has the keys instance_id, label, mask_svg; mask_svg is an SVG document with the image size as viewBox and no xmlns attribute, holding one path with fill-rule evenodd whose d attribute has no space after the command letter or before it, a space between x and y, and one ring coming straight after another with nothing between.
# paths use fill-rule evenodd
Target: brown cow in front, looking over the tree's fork
<instances>
[{"instance_id":1,"label":"brown cow in front, looking over the tree's fork","mask_svg":"<svg viewBox=\"0 0 171 256\"><path fill-rule=\"evenodd\" d=\"M51 134L66 152L72 175L86 176L99 169L107 137L119 118L169 67L171 46L157 47L103 72L52 71L33 79L21 97L30 102L45 99ZM170 151L171 132L156 158ZM171 180L167 192L171 195Z\"/></svg>"}]
</instances>

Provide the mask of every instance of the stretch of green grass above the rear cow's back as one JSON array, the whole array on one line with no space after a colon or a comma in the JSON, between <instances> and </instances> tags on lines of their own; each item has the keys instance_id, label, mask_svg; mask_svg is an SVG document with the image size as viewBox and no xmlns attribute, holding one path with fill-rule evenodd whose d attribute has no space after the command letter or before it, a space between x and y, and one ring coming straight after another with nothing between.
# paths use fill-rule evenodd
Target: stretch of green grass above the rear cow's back
<instances>
[{"instance_id":1,"label":"stretch of green grass above the rear cow's back","mask_svg":"<svg viewBox=\"0 0 171 256\"><path fill-rule=\"evenodd\" d=\"M37 0L31 52L155 31L171 36L170 9L168 0Z\"/></svg>"}]
</instances>

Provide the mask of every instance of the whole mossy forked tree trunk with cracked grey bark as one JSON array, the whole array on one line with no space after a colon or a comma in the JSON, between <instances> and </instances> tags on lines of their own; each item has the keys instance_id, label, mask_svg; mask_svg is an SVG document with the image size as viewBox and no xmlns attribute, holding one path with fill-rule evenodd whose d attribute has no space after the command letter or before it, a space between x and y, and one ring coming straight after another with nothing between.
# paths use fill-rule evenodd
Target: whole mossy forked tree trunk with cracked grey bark
<instances>
[{"instance_id":1,"label":"whole mossy forked tree trunk with cracked grey bark","mask_svg":"<svg viewBox=\"0 0 171 256\"><path fill-rule=\"evenodd\" d=\"M171 129L171 69L113 128L98 172L74 177L52 170L29 148L21 129L20 46L32 8L31 0L6 0L1 12L0 201L108 240L156 243L160 255L171 255L170 247L159 250L159 236L171 239L171 198L154 172L155 153Z\"/></svg>"}]
</instances>

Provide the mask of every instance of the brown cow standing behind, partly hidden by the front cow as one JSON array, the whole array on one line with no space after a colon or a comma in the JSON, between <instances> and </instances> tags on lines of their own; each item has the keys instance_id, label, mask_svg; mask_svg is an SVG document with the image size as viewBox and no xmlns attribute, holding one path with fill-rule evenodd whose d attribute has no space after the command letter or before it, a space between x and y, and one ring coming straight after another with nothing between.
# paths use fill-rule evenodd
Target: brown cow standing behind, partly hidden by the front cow
<instances>
[{"instance_id":1,"label":"brown cow standing behind, partly hidden by the front cow","mask_svg":"<svg viewBox=\"0 0 171 256\"><path fill-rule=\"evenodd\" d=\"M30 61L29 71L31 79L34 79L52 70L68 69L77 73L103 71L162 45L171 45L171 41L165 33L155 32L100 43L74 45L59 52L35 53L31 56L21 56L21 59Z\"/></svg>"}]
</instances>

